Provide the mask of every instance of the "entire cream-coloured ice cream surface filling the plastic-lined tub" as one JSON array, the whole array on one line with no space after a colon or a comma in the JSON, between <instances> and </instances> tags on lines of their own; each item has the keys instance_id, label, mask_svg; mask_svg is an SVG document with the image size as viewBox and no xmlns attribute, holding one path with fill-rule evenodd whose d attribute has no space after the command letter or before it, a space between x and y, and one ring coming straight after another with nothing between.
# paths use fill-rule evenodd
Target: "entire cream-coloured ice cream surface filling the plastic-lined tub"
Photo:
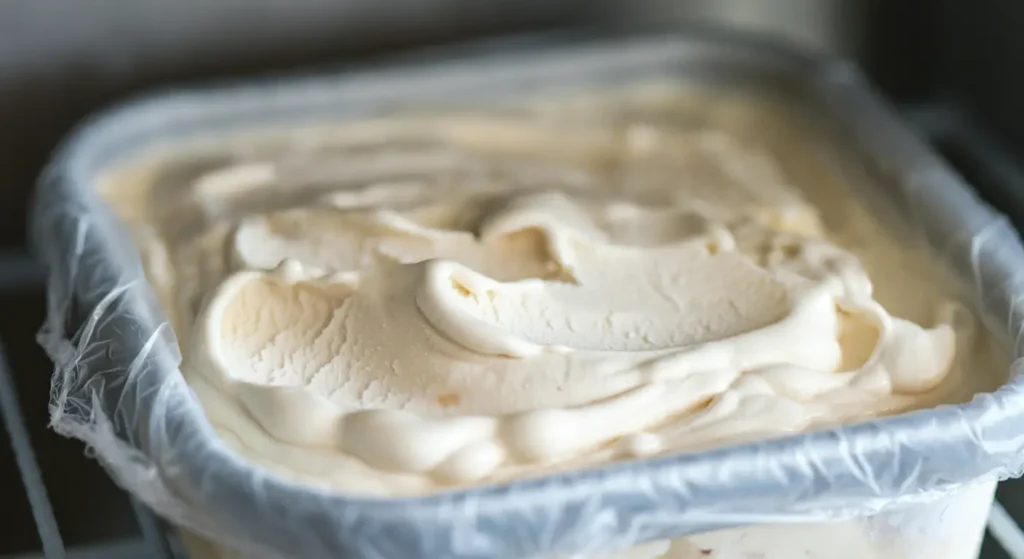
<instances>
[{"instance_id":1,"label":"entire cream-coloured ice cream surface filling the plastic-lined tub","mask_svg":"<svg viewBox=\"0 0 1024 559\"><path fill-rule=\"evenodd\" d=\"M985 388L984 331L852 192L728 127L584 121L371 119L112 180L150 185L114 203L224 439L420 494Z\"/></svg>"}]
</instances>

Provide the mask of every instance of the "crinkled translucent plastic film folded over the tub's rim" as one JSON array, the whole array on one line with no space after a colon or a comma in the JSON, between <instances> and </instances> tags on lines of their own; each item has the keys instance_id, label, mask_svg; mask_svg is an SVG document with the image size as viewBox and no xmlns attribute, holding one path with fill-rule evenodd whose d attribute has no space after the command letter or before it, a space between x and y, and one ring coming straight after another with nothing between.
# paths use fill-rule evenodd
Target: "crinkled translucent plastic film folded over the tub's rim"
<instances>
[{"instance_id":1,"label":"crinkled translucent plastic film folded over the tub's rim","mask_svg":"<svg viewBox=\"0 0 1024 559\"><path fill-rule=\"evenodd\" d=\"M140 146L211 131L688 72L801 83L889 177L894 207L970 284L990 327L1020 354L1024 250L1016 232L892 118L855 71L743 40L578 37L434 66L174 93L88 123L48 168L33 209L34 246L49 267L39 341L55 362L53 428L91 446L119 484L162 515L247 557L607 550L746 524L869 515L1019 475L1024 381L1014 375L967 404L783 439L425 498L319 492L248 465L214 435L178 372L174 335L138 253L93 191L100 170Z\"/></svg>"}]
</instances>

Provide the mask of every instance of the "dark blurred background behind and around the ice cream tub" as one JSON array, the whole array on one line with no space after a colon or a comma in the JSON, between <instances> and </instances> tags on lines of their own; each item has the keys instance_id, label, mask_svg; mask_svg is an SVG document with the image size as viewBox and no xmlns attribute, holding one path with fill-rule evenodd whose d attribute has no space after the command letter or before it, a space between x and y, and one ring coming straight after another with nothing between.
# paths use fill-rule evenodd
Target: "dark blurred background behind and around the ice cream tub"
<instances>
[{"instance_id":1,"label":"dark blurred background behind and around the ice cream tub","mask_svg":"<svg viewBox=\"0 0 1024 559\"><path fill-rule=\"evenodd\" d=\"M79 443L46 428L50 365L34 340L44 289L25 249L25 207L50 152L84 116L211 79L334 68L494 35L652 25L741 28L854 59L990 203L1024 218L1021 2L0 2L0 342L13 381L0 384L0 403L19 449L0 438L0 557L43 557L34 512L44 531L58 530L69 557L167 557L171 545ZM27 493L18 466L30 481L41 472L48 497ZM1005 484L999 499L1024 518L1024 492L1015 487ZM1010 555L987 541L984 557Z\"/></svg>"}]
</instances>

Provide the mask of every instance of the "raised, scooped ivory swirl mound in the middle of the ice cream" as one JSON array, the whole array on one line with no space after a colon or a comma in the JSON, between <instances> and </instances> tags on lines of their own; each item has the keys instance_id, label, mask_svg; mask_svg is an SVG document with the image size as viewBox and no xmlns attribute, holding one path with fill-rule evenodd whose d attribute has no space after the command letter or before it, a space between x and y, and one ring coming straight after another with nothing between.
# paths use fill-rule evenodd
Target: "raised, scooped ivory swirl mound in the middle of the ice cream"
<instances>
[{"instance_id":1,"label":"raised, scooped ivory swirl mound in the middle of the ice cream","mask_svg":"<svg viewBox=\"0 0 1024 559\"><path fill-rule=\"evenodd\" d=\"M784 189L635 178L245 218L186 368L282 442L453 484L893 413L953 367L955 309L889 315Z\"/></svg>"}]
</instances>

